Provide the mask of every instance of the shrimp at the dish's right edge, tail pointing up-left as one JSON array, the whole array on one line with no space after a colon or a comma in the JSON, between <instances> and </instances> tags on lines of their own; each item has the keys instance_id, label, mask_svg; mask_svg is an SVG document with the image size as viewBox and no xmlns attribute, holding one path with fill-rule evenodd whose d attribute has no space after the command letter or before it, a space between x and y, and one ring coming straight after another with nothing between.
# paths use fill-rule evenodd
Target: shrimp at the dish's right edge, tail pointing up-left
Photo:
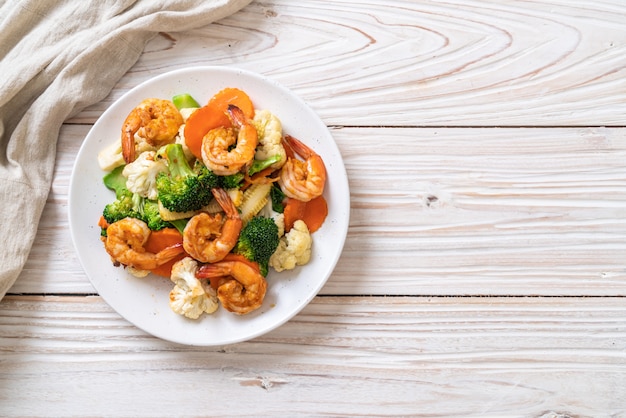
<instances>
[{"instance_id":1,"label":"shrimp at the dish's right edge, tail pointing up-left","mask_svg":"<svg viewBox=\"0 0 626 418\"><path fill-rule=\"evenodd\" d=\"M305 159L288 158L280 171L278 184L283 193L293 199L308 202L324 192L326 167L322 157L292 136L285 136L285 143Z\"/></svg>"}]
</instances>

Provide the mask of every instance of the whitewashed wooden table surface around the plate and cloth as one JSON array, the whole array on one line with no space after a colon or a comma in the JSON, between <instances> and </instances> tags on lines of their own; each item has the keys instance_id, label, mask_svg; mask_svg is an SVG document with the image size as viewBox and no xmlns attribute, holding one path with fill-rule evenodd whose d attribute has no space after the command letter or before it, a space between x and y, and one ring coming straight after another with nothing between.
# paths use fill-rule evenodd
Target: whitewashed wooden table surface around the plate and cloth
<instances>
[{"instance_id":1,"label":"whitewashed wooden table surface around the plate and cloth","mask_svg":"<svg viewBox=\"0 0 626 418\"><path fill-rule=\"evenodd\" d=\"M209 348L116 314L67 217L102 112L195 65L304 99L351 192L313 302ZM623 0L255 1L160 34L64 124L35 245L0 302L0 416L626 416L625 295Z\"/></svg>"}]
</instances>

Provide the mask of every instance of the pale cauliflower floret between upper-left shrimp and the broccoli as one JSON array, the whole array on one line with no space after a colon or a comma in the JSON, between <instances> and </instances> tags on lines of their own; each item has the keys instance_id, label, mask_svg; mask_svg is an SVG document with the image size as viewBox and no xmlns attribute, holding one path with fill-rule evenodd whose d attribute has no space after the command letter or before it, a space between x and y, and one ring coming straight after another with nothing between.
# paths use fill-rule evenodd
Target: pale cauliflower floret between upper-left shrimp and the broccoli
<instances>
[{"instance_id":1,"label":"pale cauliflower floret between upper-left shrimp and the broccoli","mask_svg":"<svg viewBox=\"0 0 626 418\"><path fill-rule=\"evenodd\" d=\"M150 200L156 200L159 192L156 188L156 177L167 171L167 165L161 160L155 160L156 152L145 151L122 171L126 177L126 188L133 193Z\"/></svg>"}]
</instances>

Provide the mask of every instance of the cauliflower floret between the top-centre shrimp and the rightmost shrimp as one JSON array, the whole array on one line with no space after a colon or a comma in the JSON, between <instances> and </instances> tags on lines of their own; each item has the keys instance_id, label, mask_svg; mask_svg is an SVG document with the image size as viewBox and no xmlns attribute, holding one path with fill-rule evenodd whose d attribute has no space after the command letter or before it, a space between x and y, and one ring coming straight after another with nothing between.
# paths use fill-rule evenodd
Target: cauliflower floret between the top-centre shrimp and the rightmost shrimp
<instances>
[{"instance_id":1,"label":"cauliflower floret between the top-centre shrimp and the rightmost shrimp","mask_svg":"<svg viewBox=\"0 0 626 418\"><path fill-rule=\"evenodd\" d=\"M280 155L280 161L272 164L272 168L282 167L287 161L287 154L282 145L283 125L280 120L269 110L256 110L252 123L259 137L254 159L262 161Z\"/></svg>"}]
</instances>

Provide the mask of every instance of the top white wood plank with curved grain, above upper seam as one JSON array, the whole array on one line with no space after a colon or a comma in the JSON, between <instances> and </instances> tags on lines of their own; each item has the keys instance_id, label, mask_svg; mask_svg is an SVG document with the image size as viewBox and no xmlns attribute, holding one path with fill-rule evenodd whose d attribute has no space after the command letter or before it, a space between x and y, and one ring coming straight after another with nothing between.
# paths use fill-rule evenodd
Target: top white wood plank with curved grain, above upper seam
<instances>
[{"instance_id":1,"label":"top white wood plank with curved grain, above upper seam","mask_svg":"<svg viewBox=\"0 0 626 418\"><path fill-rule=\"evenodd\" d=\"M253 2L153 40L111 95L194 65L266 74L329 125L626 125L626 4ZM192 92L193 93L193 92Z\"/></svg>"}]
</instances>

